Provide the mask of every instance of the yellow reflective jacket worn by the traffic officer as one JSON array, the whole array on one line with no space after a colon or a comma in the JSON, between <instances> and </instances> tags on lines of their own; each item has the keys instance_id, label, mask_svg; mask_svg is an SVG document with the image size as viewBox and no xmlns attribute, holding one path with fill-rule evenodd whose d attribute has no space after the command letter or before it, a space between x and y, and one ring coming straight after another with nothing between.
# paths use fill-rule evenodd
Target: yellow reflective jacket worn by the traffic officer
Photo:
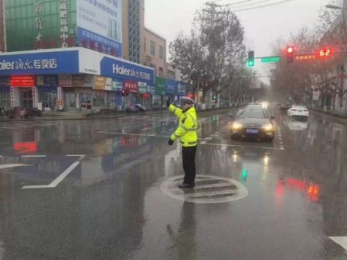
<instances>
[{"instance_id":1,"label":"yellow reflective jacket worn by the traffic officer","mask_svg":"<svg viewBox=\"0 0 347 260\"><path fill-rule=\"evenodd\" d=\"M174 105L169 106L169 110L180 119L178 128L171 135L172 140L180 139L182 146L196 146L198 144L198 120L196 119L195 107L189 107L185 112Z\"/></svg>"}]
</instances>

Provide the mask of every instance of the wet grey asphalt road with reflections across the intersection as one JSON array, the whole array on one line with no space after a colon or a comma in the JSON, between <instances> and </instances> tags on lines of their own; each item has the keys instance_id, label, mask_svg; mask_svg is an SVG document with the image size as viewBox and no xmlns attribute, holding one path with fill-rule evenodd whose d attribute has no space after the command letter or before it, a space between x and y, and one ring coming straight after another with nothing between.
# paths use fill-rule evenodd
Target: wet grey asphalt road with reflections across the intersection
<instances>
[{"instance_id":1,"label":"wet grey asphalt road with reflections across the intersection","mask_svg":"<svg viewBox=\"0 0 347 260\"><path fill-rule=\"evenodd\" d=\"M272 144L198 114L185 192L169 112L0 120L0 259L347 259L346 125L270 113Z\"/></svg>"}]
</instances>

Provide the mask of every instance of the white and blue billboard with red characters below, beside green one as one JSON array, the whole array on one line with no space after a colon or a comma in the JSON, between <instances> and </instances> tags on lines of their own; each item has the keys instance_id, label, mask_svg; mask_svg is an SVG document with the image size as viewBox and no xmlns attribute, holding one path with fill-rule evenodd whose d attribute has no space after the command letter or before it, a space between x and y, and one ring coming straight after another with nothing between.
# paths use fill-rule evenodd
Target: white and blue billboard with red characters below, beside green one
<instances>
[{"instance_id":1,"label":"white and blue billboard with red characters below, beside green one","mask_svg":"<svg viewBox=\"0 0 347 260\"><path fill-rule=\"evenodd\" d=\"M77 41L121 57L121 0L76 0Z\"/></svg>"}]
</instances>

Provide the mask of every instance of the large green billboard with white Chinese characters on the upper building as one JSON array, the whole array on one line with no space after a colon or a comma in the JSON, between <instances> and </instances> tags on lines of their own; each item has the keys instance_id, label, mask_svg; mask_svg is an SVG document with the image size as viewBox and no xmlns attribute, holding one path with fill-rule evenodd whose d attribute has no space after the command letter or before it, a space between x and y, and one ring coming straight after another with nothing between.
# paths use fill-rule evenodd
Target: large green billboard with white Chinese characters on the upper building
<instances>
[{"instance_id":1,"label":"large green billboard with white Chinese characters on the upper building","mask_svg":"<svg viewBox=\"0 0 347 260\"><path fill-rule=\"evenodd\" d=\"M74 0L4 0L7 51L76 45Z\"/></svg>"}]
</instances>

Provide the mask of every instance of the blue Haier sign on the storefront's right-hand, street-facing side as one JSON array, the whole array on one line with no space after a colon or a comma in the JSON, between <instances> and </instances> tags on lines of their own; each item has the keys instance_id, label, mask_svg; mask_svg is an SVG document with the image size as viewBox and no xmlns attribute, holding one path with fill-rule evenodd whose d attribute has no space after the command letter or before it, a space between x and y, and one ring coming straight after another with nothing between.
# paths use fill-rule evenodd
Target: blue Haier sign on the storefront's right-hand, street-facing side
<instances>
[{"instance_id":1,"label":"blue Haier sign on the storefront's right-hand, street-facing side","mask_svg":"<svg viewBox=\"0 0 347 260\"><path fill-rule=\"evenodd\" d=\"M108 57L102 58L100 67L102 76L135 80L144 82L147 85L154 85L154 69L152 68Z\"/></svg>"}]
</instances>

